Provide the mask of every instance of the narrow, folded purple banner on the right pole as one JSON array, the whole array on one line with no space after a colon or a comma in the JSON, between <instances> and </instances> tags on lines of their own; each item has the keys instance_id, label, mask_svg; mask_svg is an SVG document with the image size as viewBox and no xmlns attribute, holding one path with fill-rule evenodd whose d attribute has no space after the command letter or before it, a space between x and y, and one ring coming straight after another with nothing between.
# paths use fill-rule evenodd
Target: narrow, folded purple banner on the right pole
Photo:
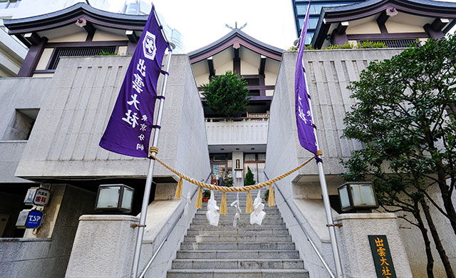
<instances>
[{"instance_id":1,"label":"narrow, folded purple banner on the right pole","mask_svg":"<svg viewBox=\"0 0 456 278\"><path fill-rule=\"evenodd\" d=\"M306 44L307 24L309 23L309 6L307 6L306 19L302 26L301 38L299 40L298 59L296 60L296 73L294 76L294 97L296 110L296 125L298 126L298 138L301 146L316 155L316 138L314 133L314 123L311 117L311 108L309 105L309 93L306 87L306 78L304 77L304 66L302 57L304 46Z\"/></svg>"}]
</instances>

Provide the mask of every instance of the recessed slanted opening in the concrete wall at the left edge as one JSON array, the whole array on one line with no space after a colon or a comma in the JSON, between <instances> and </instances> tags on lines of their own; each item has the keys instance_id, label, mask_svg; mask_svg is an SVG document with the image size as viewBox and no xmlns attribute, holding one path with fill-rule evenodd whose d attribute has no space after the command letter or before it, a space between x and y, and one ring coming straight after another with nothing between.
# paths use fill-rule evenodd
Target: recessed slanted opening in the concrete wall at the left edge
<instances>
[{"instance_id":1,"label":"recessed slanted opening in the concrete wall at the left edge","mask_svg":"<svg viewBox=\"0 0 456 278\"><path fill-rule=\"evenodd\" d=\"M16 109L1 140L28 140L39 109Z\"/></svg>"}]
</instances>

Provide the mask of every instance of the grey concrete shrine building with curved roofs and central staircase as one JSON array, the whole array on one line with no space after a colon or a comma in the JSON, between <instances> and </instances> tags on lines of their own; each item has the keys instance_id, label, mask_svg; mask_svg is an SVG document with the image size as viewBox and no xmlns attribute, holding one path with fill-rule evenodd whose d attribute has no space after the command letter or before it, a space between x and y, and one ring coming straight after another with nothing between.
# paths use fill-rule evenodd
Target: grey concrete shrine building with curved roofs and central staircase
<instances>
[{"instance_id":1,"label":"grey concrete shrine building with curved roofs and central staircase","mask_svg":"<svg viewBox=\"0 0 456 278\"><path fill-rule=\"evenodd\" d=\"M323 10L313 38L316 43L404 36L424 41L443 36L456 19L456 4L428 0L371 0L356 6L356 12L348 7ZM138 223L134 215L140 211L148 160L98 146L130 56L96 55L133 52L146 19L78 3L5 21L9 34L29 51L19 77L0 78L0 276L130 275ZM338 197L340 159L362 148L356 140L341 138L343 118L354 102L346 87L358 80L369 62L400 51L317 50L304 55L330 197ZM244 172L247 166L255 168L261 181L311 158L296 135L296 56L239 29L189 55L172 56L158 158L203 182L233 171L237 159ZM200 94L202 84L225 71L246 78L252 97L247 112L233 120L210 111ZM317 173L312 162L276 182L278 210L265 207L263 225L250 225L243 208L234 228L235 208L228 207L229 215L220 215L220 225L213 227L207 225L205 212L192 209L198 187L184 182L182 200L176 200L180 177L155 163L140 268L155 259L145 277L215 277L234 272L240 277L277 277L277 273L330 277L321 261L334 269ZM130 215L96 215L101 184L135 189ZM16 228L16 220L21 210L31 208L24 204L31 187L50 189L51 199L43 209L41 227L24 231ZM228 200L234 201L234 195ZM339 215L333 210L333 216L343 223L336 232L347 277L376 277L368 235L388 237L397 277L425 275L420 231L409 222L386 213ZM435 225L454 264L456 239L450 224L440 217ZM435 259L436 276L444 273Z\"/></svg>"}]
</instances>

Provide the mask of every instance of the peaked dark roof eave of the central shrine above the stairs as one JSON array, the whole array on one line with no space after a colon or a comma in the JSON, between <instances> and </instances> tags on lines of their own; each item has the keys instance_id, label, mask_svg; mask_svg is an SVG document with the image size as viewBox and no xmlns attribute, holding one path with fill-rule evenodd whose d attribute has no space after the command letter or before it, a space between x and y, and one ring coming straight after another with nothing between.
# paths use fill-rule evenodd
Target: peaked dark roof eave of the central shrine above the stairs
<instances>
[{"instance_id":1,"label":"peaked dark roof eave of the central shrine above the stairs","mask_svg":"<svg viewBox=\"0 0 456 278\"><path fill-rule=\"evenodd\" d=\"M256 38L252 38L252 36L245 34L240 29L233 29L231 32L222 38L219 38L217 41L209 43L207 46L190 52L190 62L196 63L204 60L205 58L209 58L210 56L223 51L229 46L232 46L233 43L236 42L246 48L249 48L252 51L260 53L261 55L272 58L276 61L281 61L281 56L284 52L284 50L281 48L270 46L269 44L258 41Z\"/></svg>"}]
</instances>

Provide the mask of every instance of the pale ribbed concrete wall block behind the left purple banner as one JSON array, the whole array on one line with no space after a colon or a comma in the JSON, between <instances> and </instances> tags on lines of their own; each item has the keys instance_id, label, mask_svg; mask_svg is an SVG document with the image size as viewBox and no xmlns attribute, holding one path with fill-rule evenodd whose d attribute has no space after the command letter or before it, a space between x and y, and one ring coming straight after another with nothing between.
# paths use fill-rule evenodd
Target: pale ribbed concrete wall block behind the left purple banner
<instances>
[{"instance_id":1,"label":"pale ribbed concrete wall block behind the left purple banner","mask_svg":"<svg viewBox=\"0 0 456 278\"><path fill-rule=\"evenodd\" d=\"M145 177L147 159L110 153L98 146L130 58L61 59L52 83L47 87L35 86L43 88L37 91L46 101L26 146L26 153L31 153L19 163L16 176ZM159 157L182 170L185 158L207 155L207 142L204 121L198 118L202 115L202 105L186 55L173 56L170 73ZM158 91L161 80L159 84ZM198 166L189 165L192 170ZM209 162L204 167L209 168ZM171 176L171 173L157 165L155 175Z\"/></svg>"}]
</instances>

